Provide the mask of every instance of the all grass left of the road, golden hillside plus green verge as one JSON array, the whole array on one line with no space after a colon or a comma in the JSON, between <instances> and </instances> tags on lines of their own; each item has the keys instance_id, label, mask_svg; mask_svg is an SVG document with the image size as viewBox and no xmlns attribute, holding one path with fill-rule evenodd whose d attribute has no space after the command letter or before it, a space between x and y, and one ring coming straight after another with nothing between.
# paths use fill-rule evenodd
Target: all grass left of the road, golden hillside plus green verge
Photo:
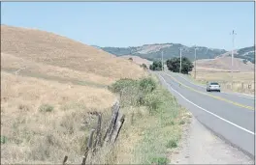
<instances>
[{"instance_id":1,"label":"all grass left of the road, golden hillside plus green verge","mask_svg":"<svg viewBox=\"0 0 256 165\"><path fill-rule=\"evenodd\" d=\"M109 120L119 94L107 87L121 78L129 78L120 86L126 123L111 159L98 163L167 162L186 123L185 110L143 77L148 73L133 62L78 41L1 25L1 162L56 164L69 155L69 163L80 164L96 124L90 112ZM155 89L141 93L139 82ZM138 96L145 102L136 104Z\"/></svg>"}]
</instances>

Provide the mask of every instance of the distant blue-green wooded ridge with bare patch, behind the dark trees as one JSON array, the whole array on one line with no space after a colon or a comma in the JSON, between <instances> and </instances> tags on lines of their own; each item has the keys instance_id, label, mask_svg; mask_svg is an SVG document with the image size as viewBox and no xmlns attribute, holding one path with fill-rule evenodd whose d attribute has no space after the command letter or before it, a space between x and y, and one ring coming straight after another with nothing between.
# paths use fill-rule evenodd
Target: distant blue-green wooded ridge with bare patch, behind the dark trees
<instances>
[{"instance_id":1,"label":"distant blue-green wooded ridge with bare patch, behind the dark trees","mask_svg":"<svg viewBox=\"0 0 256 165\"><path fill-rule=\"evenodd\" d=\"M195 48L188 47L179 43L156 43L144 44L138 47L102 47L104 51L112 53L116 56L135 55L150 61L160 60L161 53L164 53L164 59L179 57L179 48L182 47L182 56L194 60ZM213 59L218 55L227 52L223 49L212 49L208 47L198 46L197 59Z\"/></svg>"}]
</instances>

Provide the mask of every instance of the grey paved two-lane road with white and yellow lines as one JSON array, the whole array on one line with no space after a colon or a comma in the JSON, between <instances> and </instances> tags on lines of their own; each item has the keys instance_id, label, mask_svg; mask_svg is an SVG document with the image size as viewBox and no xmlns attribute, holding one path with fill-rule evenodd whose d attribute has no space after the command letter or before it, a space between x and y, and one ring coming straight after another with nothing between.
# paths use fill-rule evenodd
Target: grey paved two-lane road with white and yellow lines
<instances>
[{"instance_id":1,"label":"grey paved two-lane road with white and yellow lines","mask_svg":"<svg viewBox=\"0 0 256 165\"><path fill-rule=\"evenodd\" d=\"M227 93L208 93L173 72L156 72L160 81L197 120L226 142L254 156L254 97ZM199 135L200 136L200 135Z\"/></svg>"}]
</instances>

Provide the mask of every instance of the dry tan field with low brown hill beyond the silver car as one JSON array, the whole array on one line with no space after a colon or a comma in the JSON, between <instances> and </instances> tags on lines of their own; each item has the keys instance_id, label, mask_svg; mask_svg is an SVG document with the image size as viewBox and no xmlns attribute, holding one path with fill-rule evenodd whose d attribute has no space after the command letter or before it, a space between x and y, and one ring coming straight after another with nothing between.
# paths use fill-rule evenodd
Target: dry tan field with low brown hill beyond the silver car
<instances>
[{"instance_id":1,"label":"dry tan field with low brown hill beyond the silver car","mask_svg":"<svg viewBox=\"0 0 256 165\"><path fill-rule=\"evenodd\" d=\"M254 93L254 64L244 64L242 59L234 58L233 78L231 70L231 57L223 54L215 59L197 61L197 81L217 81L224 91L233 91L245 94ZM194 70L191 71L192 78ZM232 85L233 79L233 85ZM233 86L233 87L232 87ZM249 88L251 86L251 88Z\"/></svg>"}]
</instances>

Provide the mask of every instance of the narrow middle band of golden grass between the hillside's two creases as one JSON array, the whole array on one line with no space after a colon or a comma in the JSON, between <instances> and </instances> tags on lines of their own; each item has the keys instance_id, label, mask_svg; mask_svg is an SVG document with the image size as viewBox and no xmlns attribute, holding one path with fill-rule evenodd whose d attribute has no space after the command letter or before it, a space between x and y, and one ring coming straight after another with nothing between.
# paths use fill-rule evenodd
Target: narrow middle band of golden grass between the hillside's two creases
<instances>
[{"instance_id":1,"label":"narrow middle band of golden grass between the hillside's two creases","mask_svg":"<svg viewBox=\"0 0 256 165\"><path fill-rule=\"evenodd\" d=\"M25 69L23 69L24 67ZM54 76L64 78L66 80L77 79L103 85L110 85L113 83L114 80L114 78L112 77L104 77L94 73L88 73L75 69L60 68L46 64L36 63L6 53L1 53L1 69L12 70L13 72L15 72L18 69L21 69L19 71L20 74L26 72L29 75L36 74L39 76L44 75L48 77Z\"/></svg>"}]
</instances>

